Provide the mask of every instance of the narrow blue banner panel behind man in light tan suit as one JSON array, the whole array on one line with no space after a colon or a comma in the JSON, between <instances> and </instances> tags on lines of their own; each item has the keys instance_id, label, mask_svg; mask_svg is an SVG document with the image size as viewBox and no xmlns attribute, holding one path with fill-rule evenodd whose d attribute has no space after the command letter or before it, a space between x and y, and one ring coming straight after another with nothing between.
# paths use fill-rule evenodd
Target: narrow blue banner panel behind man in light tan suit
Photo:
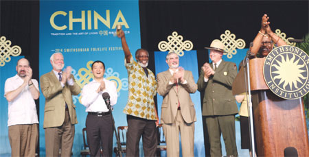
<instances>
[{"instance_id":1,"label":"narrow blue banner panel behind man in light tan suit","mask_svg":"<svg viewBox=\"0 0 309 157\"><path fill-rule=\"evenodd\" d=\"M155 51L155 67L156 75L169 69L168 64L165 62L165 57L168 51L161 52ZM198 64L196 51L184 51L183 56L179 56L179 66L183 67L187 71L192 71L194 81L198 80ZM195 132L194 132L194 156L205 156L204 149L204 133L203 133L203 121L202 121L202 109L201 109L201 97L200 93L196 90L196 93L190 94L190 97L194 103L196 110ZM161 105L163 97L157 94L158 115L161 116ZM160 117L161 118L161 117ZM180 147L181 149L181 147ZM161 154L161 156L165 154ZM181 154L180 154L181 155ZM182 156L182 155L181 155Z\"/></svg>"}]
</instances>

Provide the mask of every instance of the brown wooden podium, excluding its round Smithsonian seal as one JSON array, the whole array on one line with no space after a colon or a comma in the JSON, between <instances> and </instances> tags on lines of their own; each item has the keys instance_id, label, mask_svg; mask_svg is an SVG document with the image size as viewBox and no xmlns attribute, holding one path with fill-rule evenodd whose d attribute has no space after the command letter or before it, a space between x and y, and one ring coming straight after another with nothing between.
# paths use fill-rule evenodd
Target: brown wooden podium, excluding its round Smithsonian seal
<instances>
[{"instance_id":1,"label":"brown wooden podium, excluding its round Smithsonian seal","mask_svg":"<svg viewBox=\"0 0 309 157\"><path fill-rule=\"evenodd\" d=\"M309 156L304 105L299 99L273 94L264 81L264 58L249 60L258 156Z\"/></svg>"}]
</instances>

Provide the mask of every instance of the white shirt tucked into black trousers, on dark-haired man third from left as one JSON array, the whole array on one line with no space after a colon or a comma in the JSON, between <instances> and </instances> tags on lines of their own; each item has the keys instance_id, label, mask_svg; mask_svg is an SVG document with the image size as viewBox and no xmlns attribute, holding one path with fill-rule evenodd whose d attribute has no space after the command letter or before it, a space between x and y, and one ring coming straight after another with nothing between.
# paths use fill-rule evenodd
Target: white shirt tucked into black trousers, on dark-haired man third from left
<instances>
[{"instance_id":1,"label":"white shirt tucked into black trousers, on dark-haired man third from left","mask_svg":"<svg viewBox=\"0 0 309 157\"><path fill-rule=\"evenodd\" d=\"M114 82L106 80L103 78L105 82L105 89L100 93L97 93L100 86L100 82L96 82L93 80L86 84L82 88L82 105L86 107L86 112L108 112L108 108L106 107L105 101L102 97L103 93L108 93L110 96L111 106L117 103L117 88Z\"/></svg>"}]
</instances>

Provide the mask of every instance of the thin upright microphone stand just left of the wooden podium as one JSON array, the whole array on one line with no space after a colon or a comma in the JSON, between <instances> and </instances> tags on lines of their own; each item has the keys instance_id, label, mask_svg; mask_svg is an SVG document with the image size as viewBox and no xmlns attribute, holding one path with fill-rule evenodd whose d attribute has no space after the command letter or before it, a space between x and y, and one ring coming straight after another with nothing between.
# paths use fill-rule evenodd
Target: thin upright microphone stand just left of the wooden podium
<instances>
[{"instance_id":1,"label":"thin upright microphone stand just left of the wooden podium","mask_svg":"<svg viewBox=\"0 0 309 157\"><path fill-rule=\"evenodd\" d=\"M252 100L251 100L251 86L250 86L250 69L249 69L249 56L250 49L247 51L247 55L242 61L244 68L247 67L247 75L244 73L244 81L246 86L246 96L247 96L247 106L249 111L249 132L250 132L250 141L251 141L251 157L255 156L255 139L254 139L254 128L253 128L253 109L252 109ZM248 76L248 77L247 77ZM248 82L247 82L248 81Z\"/></svg>"}]
</instances>

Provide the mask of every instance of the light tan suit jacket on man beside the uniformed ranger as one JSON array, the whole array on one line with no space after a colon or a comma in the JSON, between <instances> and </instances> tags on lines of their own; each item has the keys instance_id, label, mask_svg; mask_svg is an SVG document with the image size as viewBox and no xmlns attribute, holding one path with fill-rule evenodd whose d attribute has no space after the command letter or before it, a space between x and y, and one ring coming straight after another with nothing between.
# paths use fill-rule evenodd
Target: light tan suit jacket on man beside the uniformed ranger
<instances>
[{"instance_id":1,"label":"light tan suit jacket on man beside the uniformed ranger","mask_svg":"<svg viewBox=\"0 0 309 157\"><path fill-rule=\"evenodd\" d=\"M187 84L179 84L178 87L176 84L169 84L170 77L172 77L172 75L169 70L157 75L157 92L159 95L163 96L161 123L174 123L179 102L181 114L185 122L192 123L196 121L194 104L190 97L190 93L195 93L197 90L197 85L194 82L192 72L185 71L184 78L187 80Z\"/></svg>"}]
</instances>

